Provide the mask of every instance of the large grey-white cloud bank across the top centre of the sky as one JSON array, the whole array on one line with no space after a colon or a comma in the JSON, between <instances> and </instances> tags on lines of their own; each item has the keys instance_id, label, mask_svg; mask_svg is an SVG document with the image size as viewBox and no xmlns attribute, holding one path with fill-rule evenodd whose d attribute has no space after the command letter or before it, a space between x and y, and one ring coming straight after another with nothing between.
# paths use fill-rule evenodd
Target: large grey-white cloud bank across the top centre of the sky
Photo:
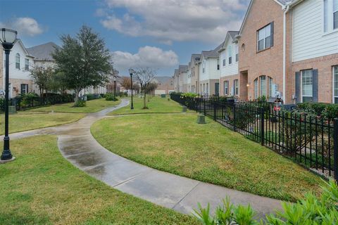
<instances>
[{"instance_id":1,"label":"large grey-white cloud bank across the top centre of the sky","mask_svg":"<svg viewBox=\"0 0 338 225\"><path fill-rule=\"evenodd\" d=\"M149 36L161 43L222 41L228 30L238 30L249 0L106 0L101 24L132 37ZM118 16L116 8L127 13ZM137 19L135 19L137 18Z\"/></svg>"}]
</instances>

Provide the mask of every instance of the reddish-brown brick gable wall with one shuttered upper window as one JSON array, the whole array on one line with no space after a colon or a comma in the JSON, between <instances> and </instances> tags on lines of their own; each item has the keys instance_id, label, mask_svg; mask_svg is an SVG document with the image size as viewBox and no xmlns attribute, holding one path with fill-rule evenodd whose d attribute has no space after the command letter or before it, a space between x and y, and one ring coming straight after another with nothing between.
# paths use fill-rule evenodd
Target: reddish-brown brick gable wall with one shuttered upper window
<instances>
[{"instance_id":1,"label":"reddish-brown brick gable wall with one shuttered upper window","mask_svg":"<svg viewBox=\"0 0 338 225\"><path fill-rule=\"evenodd\" d=\"M247 15L241 38L239 39L239 72L248 71L247 98L253 99L253 80L261 75L272 77L283 89L283 18L282 7L275 1L254 0ZM257 52L256 32L265 25L274 22L274 44L270 49ZM244 51L242 50L244 44ZM242 78L242 77L241 77ZM241 82L241 89L246 88ZM246 93L241 93L241 95ZM241 96L245 98L246 96Z\"/></svg>"}]
</instances>

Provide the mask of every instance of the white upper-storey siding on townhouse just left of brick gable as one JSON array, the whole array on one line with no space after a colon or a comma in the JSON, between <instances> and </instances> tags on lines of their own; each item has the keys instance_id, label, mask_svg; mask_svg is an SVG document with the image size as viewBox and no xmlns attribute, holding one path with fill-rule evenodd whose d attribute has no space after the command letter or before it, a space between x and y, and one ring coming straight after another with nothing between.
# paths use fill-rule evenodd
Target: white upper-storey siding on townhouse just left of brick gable
<instances>
[{"instance_id":1,"label":"white upper-storey siding on townhouse just left of brick gable","mask_svg":"<svg viewBox=\"0 0 338 225\"><path fill-rule=\"evenodd\" d=\"M227 49L229 46L232 47L232 64L229 65L229 56ZM232 39L227 39L225 43L225 49L220 52L220 77L237 75L238 74L238 62L236 62L236 46L237 44L232 43ZM225 60L225 66L223 66L223 60Z\"/></svg>"}]
</instances>

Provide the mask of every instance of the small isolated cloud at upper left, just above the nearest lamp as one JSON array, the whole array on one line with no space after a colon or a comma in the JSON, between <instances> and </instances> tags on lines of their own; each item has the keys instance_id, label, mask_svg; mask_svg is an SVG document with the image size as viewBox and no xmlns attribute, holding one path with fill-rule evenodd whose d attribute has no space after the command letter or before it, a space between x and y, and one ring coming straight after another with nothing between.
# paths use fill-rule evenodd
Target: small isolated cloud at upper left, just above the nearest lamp
<instances>
[{"instance_id":1,"label":"small isolated cloud at upper left, just above the nearest lamp","mask_svg":"<svg viewBox=\"0 0 338 225\"><path fill-rule=\"evenodd\" d=\"M35 36L42 34L44 29L37 20L29 17L14 18L10 23L0 23L1 26L18 31L18 35Z\"/></svg>"}]
</instances>

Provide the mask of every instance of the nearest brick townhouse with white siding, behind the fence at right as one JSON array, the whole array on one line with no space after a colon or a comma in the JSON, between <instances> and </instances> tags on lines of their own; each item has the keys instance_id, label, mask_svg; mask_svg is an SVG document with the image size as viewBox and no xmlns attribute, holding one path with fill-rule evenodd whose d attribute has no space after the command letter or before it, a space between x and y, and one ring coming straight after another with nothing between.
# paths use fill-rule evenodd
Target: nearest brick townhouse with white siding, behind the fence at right
<instances>
[{"instance_id":1,"label":"nearest brick townhouse with white siding, behind the fence at right","mask_svg":"<svg viewBox=\"0 0 338 225\"><path fill-rule=\"evenodd\" d=\"M237 36L241 98L337 103L337 12L337 0L251 0Z\"/></svg>"}]
</instances>

